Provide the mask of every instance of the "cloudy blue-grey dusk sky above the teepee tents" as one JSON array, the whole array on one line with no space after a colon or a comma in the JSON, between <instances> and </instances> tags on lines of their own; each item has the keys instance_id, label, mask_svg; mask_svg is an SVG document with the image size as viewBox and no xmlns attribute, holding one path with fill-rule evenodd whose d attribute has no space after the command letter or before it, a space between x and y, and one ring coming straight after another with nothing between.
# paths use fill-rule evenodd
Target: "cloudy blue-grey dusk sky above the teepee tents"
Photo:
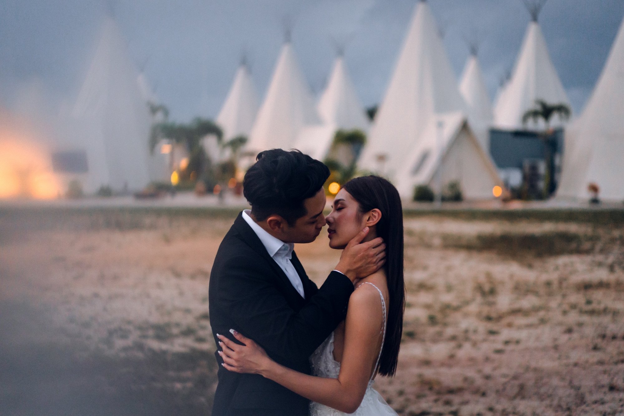
<instances>
[{"instance_id":1,"label":"cloudy blue-grey dusk sky above the teepee tents","mask_svg":"<svg viewBox=\"0 0 624 416\"><path fill-rule=\"evenodd\" d=\"M0 103L12 106L39 83L56 109L71 105L102 21L110 9L137 67L171 117L214 118L242 51L263 97L284 38L285 21L313 92L322 91L335 57L345 59L364 106L383 98L417 0L0 0ZM483 41L479 58L495 98L514 64L529 13L520 0L429 0L459 79L464 37ZM624 17L623 0L549 0L540 24L574 111L582 109ZM146 63L147 62L147 63Z\"/></svg>"}]
</instances>

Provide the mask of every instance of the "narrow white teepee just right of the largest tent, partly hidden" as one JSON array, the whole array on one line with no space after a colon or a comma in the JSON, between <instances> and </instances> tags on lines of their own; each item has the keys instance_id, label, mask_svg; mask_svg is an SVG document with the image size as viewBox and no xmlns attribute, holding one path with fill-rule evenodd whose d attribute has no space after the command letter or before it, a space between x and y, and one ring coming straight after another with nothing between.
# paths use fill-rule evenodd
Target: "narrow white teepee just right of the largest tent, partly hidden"
<instances>
[{"instance_id":1,"label":"narrow white teepee just right of the largest tent, partly hidden","mask_svg":"<svg viewBox=\"0 0 624 416\"><path fill-rule=\"evenodd\" d=\"M485 86L483 72L479 65L476 54L470 54L461 82L459 91L466 101L468 107L470 126L475 132L477 139L485 151L489 151L489 127L492 125L494 113L492 112L492 102Z\"/></svg>"}]
</instances>

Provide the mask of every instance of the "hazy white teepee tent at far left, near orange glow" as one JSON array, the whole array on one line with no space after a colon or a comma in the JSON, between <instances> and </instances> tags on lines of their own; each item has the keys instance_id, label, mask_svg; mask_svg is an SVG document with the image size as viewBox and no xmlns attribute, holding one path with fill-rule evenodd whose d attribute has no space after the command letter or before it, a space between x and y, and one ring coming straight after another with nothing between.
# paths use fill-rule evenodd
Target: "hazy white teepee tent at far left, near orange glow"
<instances>
[{"instance_id":1,"label":"hazy white teepee tent at far left, near orange glow","mask_svg":"<svg viewBox=\"0 0 624 416\"><path fill-rule=\"evenodd\" d=\"M102 185L132 191L149 182L151 116L138 77L119 27L107 18L72 112L77 145L87 151L87 192Z\"/></svg>"}]
</instances>

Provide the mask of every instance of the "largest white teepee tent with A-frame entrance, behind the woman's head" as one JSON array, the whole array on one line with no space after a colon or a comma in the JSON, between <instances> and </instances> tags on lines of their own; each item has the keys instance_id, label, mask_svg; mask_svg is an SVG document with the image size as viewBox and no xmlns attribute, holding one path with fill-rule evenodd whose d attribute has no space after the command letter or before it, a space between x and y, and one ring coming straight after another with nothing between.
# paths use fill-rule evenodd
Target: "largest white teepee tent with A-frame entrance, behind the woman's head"
<instances>
[{"instance_id":1,"label":"largest white teepee tent with A-frame entrance, behind the woman's head","mask_svg":"<svg viewBox=\"0 0 624 416\"><path fill-rule=\"evenodd\" d=\"M416 6L392 81L364 148L360 166L389 177L401 197L414 186L457 181L469 199L492 197L500 179L468 124L466 103L457 87L429 6Z\"/></svg>"}]
</instances>

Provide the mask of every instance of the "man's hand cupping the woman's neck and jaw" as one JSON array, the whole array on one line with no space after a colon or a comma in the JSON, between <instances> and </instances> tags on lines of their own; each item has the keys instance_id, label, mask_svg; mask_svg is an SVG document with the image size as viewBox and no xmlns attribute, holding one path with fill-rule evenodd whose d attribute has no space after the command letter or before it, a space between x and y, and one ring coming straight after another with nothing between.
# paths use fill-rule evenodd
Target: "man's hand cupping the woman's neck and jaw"
<instances>
[{"instance_id":1,"label":"man's hand cupping the woman's neck and jaw","mask_svg":"<svg viewBox=\"0 0 624 416\"><path fill-rule=\"evenodd\" d=\"M335 269L346 275L351 282L373 274L386 262L386 244L381 237L361 242L368 235L368 230L365 227L349 241Z\"/></svg>"}]
</instances>

